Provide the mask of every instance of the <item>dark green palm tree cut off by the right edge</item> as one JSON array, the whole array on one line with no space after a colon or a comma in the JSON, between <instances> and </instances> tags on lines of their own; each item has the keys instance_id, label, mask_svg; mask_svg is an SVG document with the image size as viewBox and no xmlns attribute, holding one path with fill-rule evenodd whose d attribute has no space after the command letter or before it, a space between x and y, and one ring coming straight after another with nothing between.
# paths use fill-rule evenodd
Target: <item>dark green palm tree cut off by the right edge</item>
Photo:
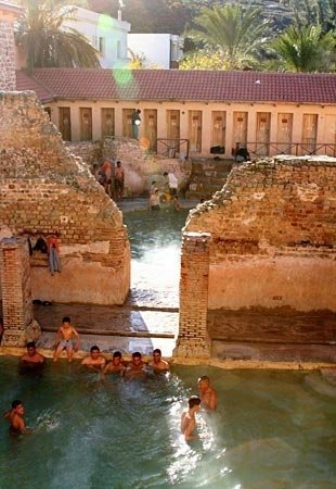
<instances>
[{"instance_id":1,"label":"dark green palm tree cut off by the right edge","mask_svg":"<svg viewBox=\"0 0 336 489\"><path fill-rule=\"evenodd\" d=\"M334 34L322 34L321 26L290 26L273 42L280 64L294 72L335 70L335 48Z\"/></svg>"}]
</instances>

